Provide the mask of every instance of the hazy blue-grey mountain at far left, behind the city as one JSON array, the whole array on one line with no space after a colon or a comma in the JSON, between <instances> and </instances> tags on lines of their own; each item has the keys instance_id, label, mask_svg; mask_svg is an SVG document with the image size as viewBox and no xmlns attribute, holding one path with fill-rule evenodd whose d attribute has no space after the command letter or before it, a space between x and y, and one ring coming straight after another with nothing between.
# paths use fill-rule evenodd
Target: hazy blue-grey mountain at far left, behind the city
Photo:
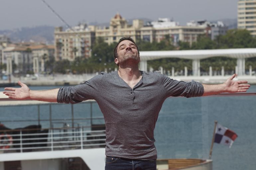
<instances>
[{"instance_id":1,"label":"hazy blue-grey mountain at far left, behind the city","mask_svg":"<svg viewBox=\"0 0 256 170\"><path fill-rule=\"evenodd\" d=\"M54 27L37 26L23 27L12 30L2 30L0 34L4 34L11 39L11 42L43 42L47 44L54 43Z\"/></svg>"}]
</instances>

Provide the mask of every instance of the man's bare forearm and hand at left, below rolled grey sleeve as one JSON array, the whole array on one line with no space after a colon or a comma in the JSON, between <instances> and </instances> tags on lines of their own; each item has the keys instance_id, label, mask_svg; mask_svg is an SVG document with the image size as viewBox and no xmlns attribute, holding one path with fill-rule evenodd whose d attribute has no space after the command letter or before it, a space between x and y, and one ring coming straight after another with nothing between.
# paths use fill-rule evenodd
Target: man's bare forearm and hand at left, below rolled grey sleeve
<instances>
[{"instance_id":1,"label":"man's bare forearm and hand at left, below rolled grey sleeve","mask_svg":"<svg viewBox=\"0 0 256 170\"><path fill-rule=\"evenodd\" d=\"M45 102L57 102L57 96L59 89L52 90L30 90L28 86L21 81L18 81L20 88L6 87L3 93L8 96L10 99L18 100L38 100Z\"/></svg>"}]
</instances>

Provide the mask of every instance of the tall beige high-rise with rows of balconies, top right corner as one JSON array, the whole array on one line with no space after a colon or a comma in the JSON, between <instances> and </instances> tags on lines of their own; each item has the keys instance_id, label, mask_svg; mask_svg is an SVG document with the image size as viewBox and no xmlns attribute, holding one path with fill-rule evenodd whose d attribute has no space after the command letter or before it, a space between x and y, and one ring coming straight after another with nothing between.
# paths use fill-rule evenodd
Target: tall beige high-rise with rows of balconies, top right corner
<instances>
[{"instance_id":1,"label":"tall beige high-rise with rows of balconies, top right corner","mask_svg":"<svg viewBox=\"0 0 256 170\"><path fill-rule=\"evenodd\" d=\"M256 35L256 0L238 0L237 28L250 31Z\"/></svg>"}]
</instances>

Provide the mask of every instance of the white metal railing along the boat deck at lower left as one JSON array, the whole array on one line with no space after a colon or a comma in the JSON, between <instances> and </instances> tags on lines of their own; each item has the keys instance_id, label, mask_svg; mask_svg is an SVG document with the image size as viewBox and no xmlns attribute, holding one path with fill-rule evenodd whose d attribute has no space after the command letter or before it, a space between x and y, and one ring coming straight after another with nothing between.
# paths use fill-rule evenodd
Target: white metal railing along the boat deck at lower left
<instances>
[{"instance_id":1,"label":"white metal railing along the boat deck at lower left","mask_svg":"<svg viewBox=\"0 0 256 170\"><path fill-rule=\"evenodd\" d=\"M33 130L38 133L28 133L31 129L2 130L0 151L8 153L105 147L105 130L83 130L83 128Z\"/></svg>"}]
</instances>

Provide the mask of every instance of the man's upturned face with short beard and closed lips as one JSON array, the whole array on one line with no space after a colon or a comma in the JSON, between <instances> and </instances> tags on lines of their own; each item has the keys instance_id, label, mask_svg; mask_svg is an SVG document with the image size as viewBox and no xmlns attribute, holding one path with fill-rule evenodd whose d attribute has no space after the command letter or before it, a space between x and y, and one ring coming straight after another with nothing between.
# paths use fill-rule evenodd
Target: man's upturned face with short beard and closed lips
<instances>
[{"instance_id":1,"label":"man's upturned face with short beard and closed lips","mask_svg":"<svg viewBox=\"0 0 256 170\"><path fill-rule=\"evenodd\" d=\"M138 64L140 62L140 56L136 45L129 41L124 40L117 46L118 57L115 58L116 64L127 64L128 62Z\"/></svg>"}]
</instances>

